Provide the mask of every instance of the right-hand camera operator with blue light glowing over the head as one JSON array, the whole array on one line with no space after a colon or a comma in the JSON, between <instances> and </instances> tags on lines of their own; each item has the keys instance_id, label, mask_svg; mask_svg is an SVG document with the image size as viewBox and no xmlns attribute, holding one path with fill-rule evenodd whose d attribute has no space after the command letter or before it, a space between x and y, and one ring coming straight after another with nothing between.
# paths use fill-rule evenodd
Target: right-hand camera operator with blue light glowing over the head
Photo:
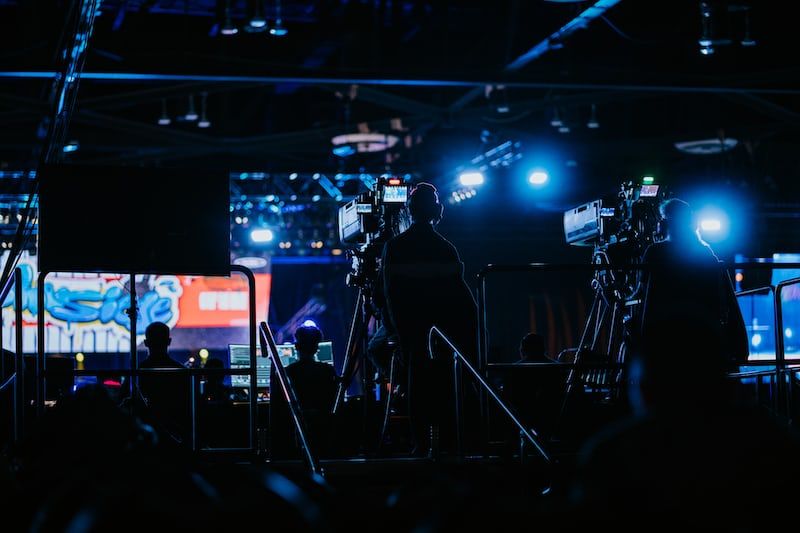
<instances>
[{"instance_id":1,"label":"right-hand camera operator with blue light glowing over the head","mask_svg":"<svg viewBox=\"0 0 800 533\"><path fill-rule=\"evenodd\" d=\"M711 336L728 358L730 368L746 361L748 338L730 277L711 247L697 231L697 218L689 204L676 198L660 206L659 222L665 239L651 244L643 263L645 288L639 339L656 341L664 334L666 317L692 310L706 318ZM668 333L667 333L668 334Z\"/></svg>"}]
</instances>

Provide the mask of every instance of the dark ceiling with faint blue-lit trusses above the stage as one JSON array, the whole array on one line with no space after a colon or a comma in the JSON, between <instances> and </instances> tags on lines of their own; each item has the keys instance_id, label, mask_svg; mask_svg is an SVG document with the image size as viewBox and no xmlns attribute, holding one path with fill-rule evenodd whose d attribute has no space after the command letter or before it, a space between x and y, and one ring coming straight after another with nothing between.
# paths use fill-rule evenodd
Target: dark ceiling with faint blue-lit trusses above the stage
<instances>
[{"instance_id":1,"label":"dark ceiling with faint blue-lit trusses above the stage","mask_svg":"<svg viewBox=\"0 0 800 533\"><path fill-rule=\"evenodd\" d=\"M53 70L67 4L0 0L0 70ZM520 165L546 153L570 173L565 203L644 173L743 188L762 205L798 197L800 59L786 2L705 2L711 55L700 53L694 0L284 0L282 37L244 31L254 2L227 4L236 35L221 32L224 1L104 1L84 72L153 76L83 79L68 134L80 149L67 158L231 172L389 169L444 183L511 140L521 143ZM558 35L594 4L616 5ZM261 5L274 27L276 2ZM753 46L743 46L748 37ZM544 51L521 59L532 49ZM0 78L0 168L34 165L48 89L45 79ZM180 116L190 95L199 110L204 92L211 125L199 129ZM157 125L162 105L168 126ZM595 129L586 127L592 106ZM550 125L556 112L568 133ZM333 155L330 139L355 131L400 142L388 155ZM724 138L738 144L722 154L674 146Z\"/></svg>"}]
</instances>

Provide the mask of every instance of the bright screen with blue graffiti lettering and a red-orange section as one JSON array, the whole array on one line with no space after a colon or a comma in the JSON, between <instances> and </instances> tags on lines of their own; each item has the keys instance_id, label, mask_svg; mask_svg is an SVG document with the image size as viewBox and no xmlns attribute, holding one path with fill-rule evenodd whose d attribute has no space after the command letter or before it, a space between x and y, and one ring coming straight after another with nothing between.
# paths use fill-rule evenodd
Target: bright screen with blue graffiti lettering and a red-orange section
<instances>
[{"instance_id":1,"label":"bright screen with blue graffiti lettering and a red-orange section","mask_svg":"<svg viewBox=\"0 0 800 533\"><path fill-rule=\"evenodd\" d=\"M4 259L4 258L3 258ZM2 262L0 262L2 263ZM36 258L23 255L23 341L36 350ZM256 320L266 320L271 276L258 272ZM172 329L174 349L223 349L247 341L248 283L229 278L175 275L136 276L138 344L151 322ZM130 348L129 277L120 274L51 274L45 281L47 352L126 352ZM3 344L14 343L13 291L3 303Z\"/></svg>"}]
</instances>

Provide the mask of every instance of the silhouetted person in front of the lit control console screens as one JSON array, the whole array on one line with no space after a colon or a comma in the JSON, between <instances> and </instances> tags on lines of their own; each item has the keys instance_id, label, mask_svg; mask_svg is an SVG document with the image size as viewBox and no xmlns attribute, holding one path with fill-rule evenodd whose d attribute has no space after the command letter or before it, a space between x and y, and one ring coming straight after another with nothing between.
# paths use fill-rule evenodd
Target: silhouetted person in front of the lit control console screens
<instances>
[{"instance_id":1,"label":"silhouetted person in front of the lit control console screens","mask_svg":"<svg viewBox=\"0 0 800 533\"><path fill-rule=\"evenodd\" d=\"M300 326L294 332L297 361L286 367L286 376L302 410L308 437L319 454L331 448L333 402L336 398L336 371L333 365L316 360L322 331L315 326ZM273 455L283 455L293 447L287 442L294 435L288 406L275 372L270 373L270 433Z\"/></svg>"}]
</instances>

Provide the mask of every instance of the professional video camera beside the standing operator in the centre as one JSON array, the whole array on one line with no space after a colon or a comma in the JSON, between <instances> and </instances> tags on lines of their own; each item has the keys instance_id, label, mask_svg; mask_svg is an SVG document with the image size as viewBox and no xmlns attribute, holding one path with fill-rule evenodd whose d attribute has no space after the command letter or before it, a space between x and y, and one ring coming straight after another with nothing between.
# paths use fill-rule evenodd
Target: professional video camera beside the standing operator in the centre
<instances>
[{"instance_id":1,"label":"professional video camera beside the standing operator in the centre","mask_svg":"<svg viewBox=\"0 0 800 533\"><path fill-rule=\"evenodd\" d=\"M369 288L378 273L383 244L400 234L408 223L409 184L401 177L381 176L375 187L339 208L339 240L349 250L352 287Z\"/></svg>"}]
</instances>

